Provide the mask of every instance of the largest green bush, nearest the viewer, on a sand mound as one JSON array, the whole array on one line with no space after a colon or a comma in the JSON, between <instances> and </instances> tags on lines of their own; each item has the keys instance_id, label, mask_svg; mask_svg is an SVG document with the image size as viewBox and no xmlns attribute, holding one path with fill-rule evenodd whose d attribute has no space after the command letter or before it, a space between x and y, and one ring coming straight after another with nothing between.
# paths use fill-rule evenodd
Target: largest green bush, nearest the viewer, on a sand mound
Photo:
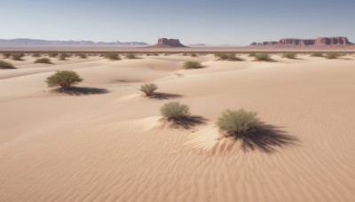
<instances>
[{"instance_id":1,"label":"largest green bush, nearest the viewer, on a sand mound","mask_svg":"<svg viewBox=\"0 0 355 202\"><path fill-rule=\"evenodd\" d=\"M261 125L256 117L257 113L246 112L244 109L238 111L225 110L217 119L217 128L225 133L225 136L232 136L235 140L248 137L253 128Z\"/></svg>"}]
</instances>

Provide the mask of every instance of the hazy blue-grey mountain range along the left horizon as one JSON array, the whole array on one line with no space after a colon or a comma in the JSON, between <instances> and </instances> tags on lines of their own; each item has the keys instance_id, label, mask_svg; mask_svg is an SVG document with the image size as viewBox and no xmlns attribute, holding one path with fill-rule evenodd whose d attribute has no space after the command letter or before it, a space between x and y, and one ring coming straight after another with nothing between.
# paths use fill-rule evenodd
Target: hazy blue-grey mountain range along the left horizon
<instances>
[{"instance_id":1,"label":"hazy blue-grey mountain range along the left horizon","mask_svg":"<svg viewBox=\"0 0 355 202\"><path fill-rule=\"evenodd\" d=\"M40 39L0 39L0 45L148 45L148 43L143 42L113 42L113 43L104 43L99 42L95 43L92 41L49 41L49 40L40 40Z\"/></svg>"}]
</instances>

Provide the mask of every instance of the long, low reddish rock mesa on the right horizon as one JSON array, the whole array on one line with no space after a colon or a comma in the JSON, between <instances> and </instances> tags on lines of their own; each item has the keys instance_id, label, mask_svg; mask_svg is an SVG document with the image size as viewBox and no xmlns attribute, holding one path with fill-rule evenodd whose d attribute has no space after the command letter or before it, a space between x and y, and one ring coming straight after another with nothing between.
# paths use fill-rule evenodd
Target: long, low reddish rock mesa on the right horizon
<instances>
[{"instance_id":1,"label":"long, low reddish rock mesa on the right horizon","mask_svg":"<svg viewBox=\"0 0 355 202\"><path fill-rule=\"evenodd\" d=\"M291 45L291 46L304 46L304 45L316 45L316 46L343 46L351 45L348 38L345 36L335 37L319 37L317 39L296 39L285 38L280 39L279 42L263 42L263 43L250 43L250 45Z\"/></svg>"}]
</instances>

